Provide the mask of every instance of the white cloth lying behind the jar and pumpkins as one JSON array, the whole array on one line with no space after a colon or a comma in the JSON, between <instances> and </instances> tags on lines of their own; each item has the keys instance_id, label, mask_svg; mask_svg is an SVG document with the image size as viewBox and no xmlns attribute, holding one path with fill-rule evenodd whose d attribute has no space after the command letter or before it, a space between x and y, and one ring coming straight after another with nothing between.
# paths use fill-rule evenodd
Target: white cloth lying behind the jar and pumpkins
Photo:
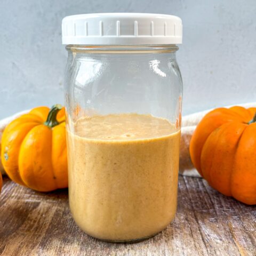
<instances>
[{"instance_id":1,"label":"white cloth lying behind the jar and pumpkins","mask_svg":"<svg viewBox=\"0 0 256 256\"><path fill-rule=\"evenodd\" d=\"M255 107L256 102L244 103L236 106L243 106L245 108ZM180 169L179 169L180 174L182 175L200 177L199 173L196 171L196 169L194 168L190 160L189 142L194 130L196 129L196 125L198 124L198 122L204 117L206 113L208 113L211 110L212 109L209 109L209 110L197 112L197 113L182 117L181 140L180 140ZM5 126L8 123L10 123L13 119L19 117L20 115L28 113L28 111L29 110L21 111L13 116L0 120L0 140L1 140L2 133ZM1 148L1 144L0 144L0 148ZM1 163L1 158L0 158L0 171L4 173L3 166Z\"/></svg>"}]
</instances>

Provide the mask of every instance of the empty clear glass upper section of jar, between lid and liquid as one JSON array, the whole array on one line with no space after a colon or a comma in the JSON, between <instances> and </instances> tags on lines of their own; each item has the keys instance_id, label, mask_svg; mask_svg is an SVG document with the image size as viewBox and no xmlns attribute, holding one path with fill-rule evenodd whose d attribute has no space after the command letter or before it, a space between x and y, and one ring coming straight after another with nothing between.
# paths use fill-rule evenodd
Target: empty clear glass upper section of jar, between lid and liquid
<instances>
[{"instance_id":1,"label":"empty clear glass upper section of jar, between lid and liquid","mask_svg":"<svg viewBox=\"0 0 256 256\"><path fill-rule=\"evenodd\" d=\"M83 109L89 115L151 114L180 128L178 46L66 48L66 106L73 122Z\"/></svg>"}]
</instances>

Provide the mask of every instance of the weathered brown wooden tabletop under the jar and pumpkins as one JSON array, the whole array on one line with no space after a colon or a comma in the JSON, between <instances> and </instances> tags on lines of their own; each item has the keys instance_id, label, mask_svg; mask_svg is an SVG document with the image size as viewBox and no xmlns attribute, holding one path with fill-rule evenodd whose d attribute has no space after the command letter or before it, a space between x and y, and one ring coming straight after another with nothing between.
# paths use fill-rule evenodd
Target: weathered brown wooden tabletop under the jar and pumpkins
<instances>
[{"instance_id":1,"label":"weathered brown wooden tabletop under the jar and pumpkins","mask_svg":"<svg viewBox=\"0 0 256 256\"><path fill-rule=\"evenodd\" d=\"M256 207L182 176L178 202L175 220L155 237L112 244L76 226L67 189L37 193L4 178L0 255L256 255Z\"/></svg>"}]
</instances>

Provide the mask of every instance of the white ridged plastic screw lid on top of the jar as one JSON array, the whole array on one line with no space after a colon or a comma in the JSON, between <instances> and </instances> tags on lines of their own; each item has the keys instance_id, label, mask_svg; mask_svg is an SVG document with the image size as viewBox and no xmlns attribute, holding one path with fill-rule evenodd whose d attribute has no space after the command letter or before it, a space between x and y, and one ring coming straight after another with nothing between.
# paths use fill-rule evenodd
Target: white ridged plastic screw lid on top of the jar
<instances>
[{"instance_id":1,"label":"white ridged plastic screw lid on top of the jar","mask_svg":"<svg viewBox=\"0 0 256 256\"><path fill-rule=\"evenodd\" d=\"M182 43L179 17L150 13L95 13L62 20L62 44L163 45Z\"/></svg>"}]
</instances>

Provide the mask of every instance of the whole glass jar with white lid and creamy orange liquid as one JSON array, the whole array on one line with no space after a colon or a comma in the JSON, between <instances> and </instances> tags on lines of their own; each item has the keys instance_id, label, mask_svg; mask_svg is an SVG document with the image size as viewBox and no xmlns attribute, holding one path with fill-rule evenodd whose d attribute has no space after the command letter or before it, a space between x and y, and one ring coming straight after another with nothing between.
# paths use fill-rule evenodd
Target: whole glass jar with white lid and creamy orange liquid
<instances>
[{"instance_id":1,"label":"whole glass jar with white lid and creamy orange liquid","mask_svg":"<svg viewBox=\"0 0 256 256\"><path fill-rule=\"evenodd\" d=\"M173 23L176 36L166 33ZM177 24L178 17L160 14L62 21L69 205L77 225L93 237L138 241L174 218L182 102ZM117 35L102 32L111 34L112 26ZM163 35L155 35L160 28Z\"/></svg>"}]
</instances>

